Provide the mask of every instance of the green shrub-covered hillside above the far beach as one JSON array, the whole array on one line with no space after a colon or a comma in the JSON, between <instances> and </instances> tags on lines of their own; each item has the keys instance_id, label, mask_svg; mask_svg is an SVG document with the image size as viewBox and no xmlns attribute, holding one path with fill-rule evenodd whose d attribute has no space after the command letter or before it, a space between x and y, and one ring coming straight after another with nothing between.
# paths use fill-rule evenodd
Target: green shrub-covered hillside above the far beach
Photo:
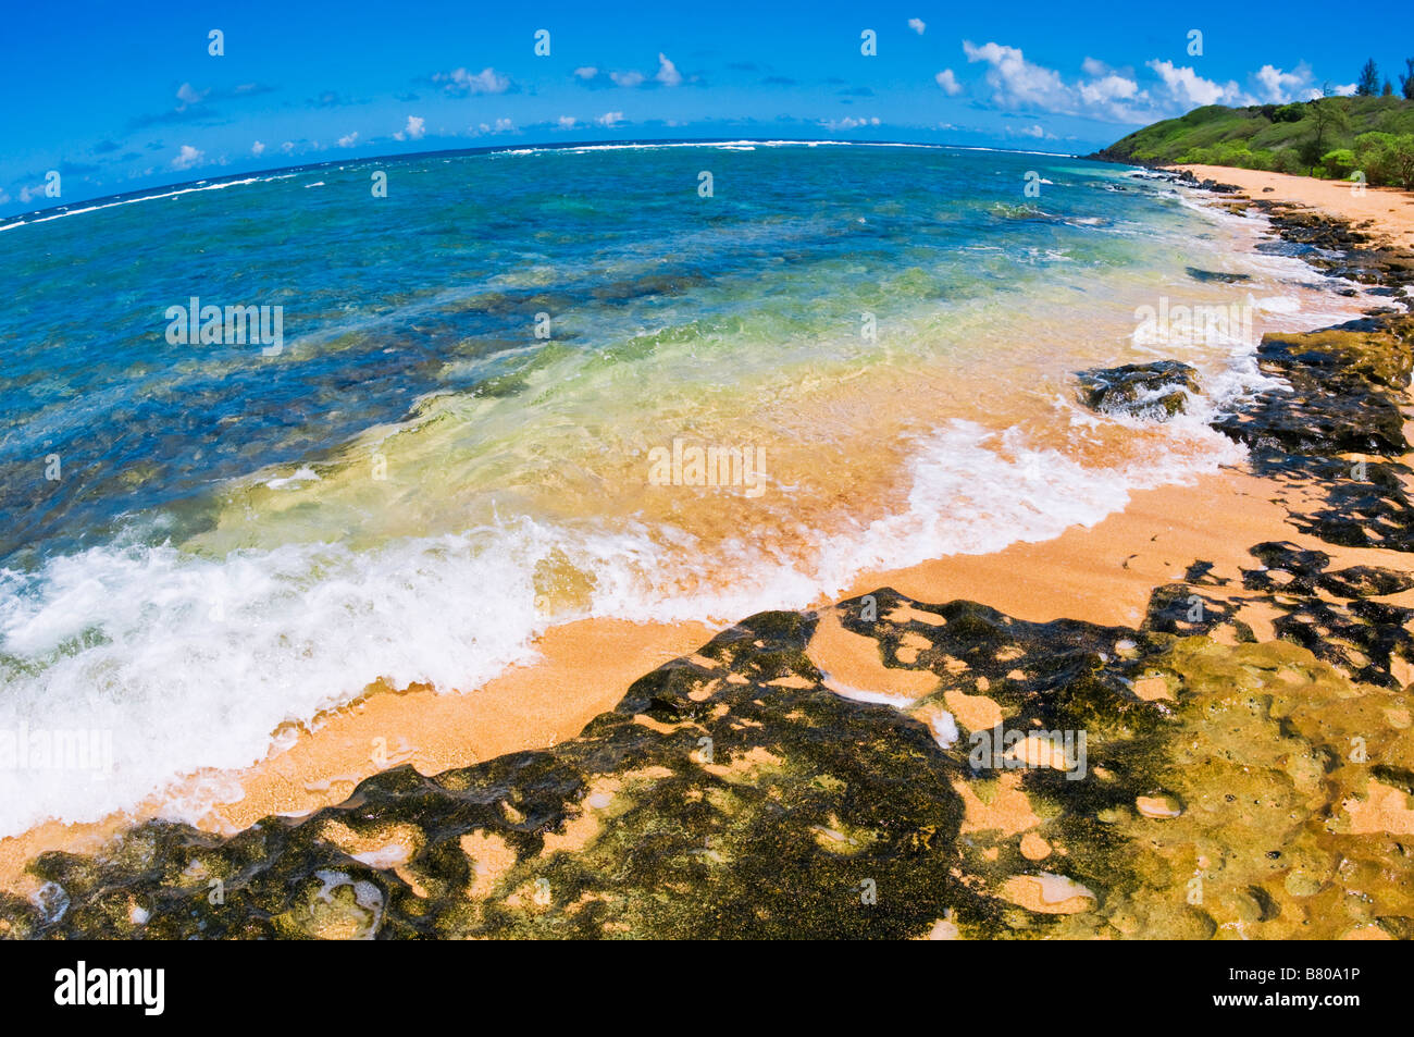
<instances>
[{"instance_id":1,"label":"green shrub-covered hillside above the far beach","mask_svg":"<svg viewBox=\"0 0 1414 1037\"><path fill-rule=\"evenodd\" d=\"M1294 105L1195 108L1094 156L1135 166L1200 163L1414 187L1414 100L1321 98Z\"/></svg>"}]
</instances>

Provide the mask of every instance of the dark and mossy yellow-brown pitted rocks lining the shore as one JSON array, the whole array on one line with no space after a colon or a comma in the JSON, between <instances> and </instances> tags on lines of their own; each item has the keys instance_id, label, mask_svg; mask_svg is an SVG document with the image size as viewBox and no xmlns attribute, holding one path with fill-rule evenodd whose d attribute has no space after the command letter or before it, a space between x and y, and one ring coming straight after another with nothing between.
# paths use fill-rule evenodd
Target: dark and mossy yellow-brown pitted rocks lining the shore
<instances>
[{"instance_id":1,"label":"dark and mossy yellow-brown pitted rocks lining the shore","mask_svg":"<svg viewBox=\"0 0 1414 1037\"><path fill-rule=\"evenodd\" d=\"M1291 390L1217 424L1299 543L1254 543L1240 573L1174 559L1185 579L1134 627L888 587L762 613L550 748L393 768L229 839L148 822L41 854L0 935L1414 937L1414 259L1226 204L1391 300L1268 335L1258 362ZM1172 413L1182 366L1077 392L1157 389ZM826 637L930 690L841 693Z\"/></svg>"}]
</instances>

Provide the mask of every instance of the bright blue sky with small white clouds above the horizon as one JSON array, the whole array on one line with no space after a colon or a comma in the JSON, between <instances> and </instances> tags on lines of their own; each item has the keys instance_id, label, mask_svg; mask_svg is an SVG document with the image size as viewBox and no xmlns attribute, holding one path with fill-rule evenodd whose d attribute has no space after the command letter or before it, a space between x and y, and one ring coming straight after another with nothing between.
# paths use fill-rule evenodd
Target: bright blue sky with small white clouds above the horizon
<instances>
[{"instance_id":1,"label":"bright blue sky with small white clouds above the horizon","mask_svg":"<svg viewBox=\"0 0 1414 1037\"><path fill-rule=\"evenodd\" d=\"M1349 89L1367 57L1397 88L1414 55L1414 4L1307 0L1208 13L245 0L76 3L62 16L16 4L3 17L4 214L329 158L530 143L751 136L1086 153L1202 103ZM537 30L549 57L534 52ZM875 55L861 54L864 30ZM59 199L44 195L51 170Z\"/></svg>"}]
</instances>

